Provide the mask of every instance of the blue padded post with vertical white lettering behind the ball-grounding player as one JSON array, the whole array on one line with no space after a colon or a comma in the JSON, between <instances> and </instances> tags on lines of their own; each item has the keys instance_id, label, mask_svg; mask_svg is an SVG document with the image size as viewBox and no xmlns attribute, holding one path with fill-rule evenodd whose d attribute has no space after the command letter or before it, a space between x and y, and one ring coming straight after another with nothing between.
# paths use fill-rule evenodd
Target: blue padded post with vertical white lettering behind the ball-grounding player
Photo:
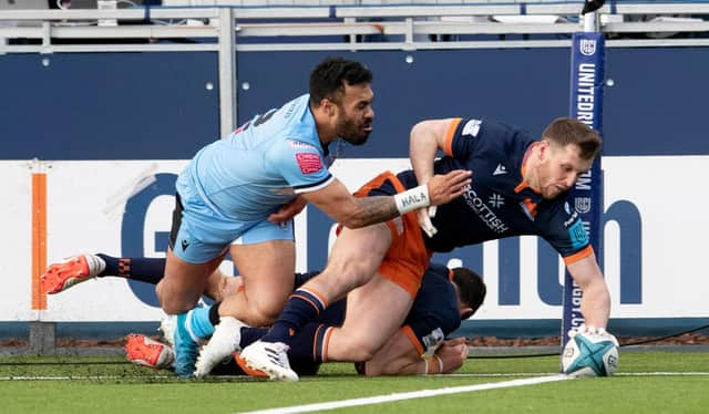
<instances>
[{"instance_id":1,"label":"blue padded post with vertical white lettering behind the ball-grounding player","mask_svg":"<svg viewBox=\"0 0 709 414\"><path fill-rule=\"evenodd\" d=\"M605 40L603 33L575 33L572 46L569 116L582 121L603 136ZM603 258L600 216L603 213L603 176L600 156L590 170L582 175L572 192L574 207L588 232L596 257ZM584 322L580 313L582 291L566 272L564 278L564 318L562 349L568 341L568 330Z\"/></svg>"}]
</instances>

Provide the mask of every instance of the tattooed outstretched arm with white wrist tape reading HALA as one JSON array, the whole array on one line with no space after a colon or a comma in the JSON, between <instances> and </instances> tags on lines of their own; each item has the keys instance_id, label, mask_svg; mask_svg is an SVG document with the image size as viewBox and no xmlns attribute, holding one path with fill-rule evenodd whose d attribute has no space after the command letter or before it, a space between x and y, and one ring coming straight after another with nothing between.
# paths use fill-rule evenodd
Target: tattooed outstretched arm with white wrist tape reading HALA
<instances>
[{"instance_id":1,"label":"tattooed outstretched arm with white wrist tape reading HALA","mask_svg":"<svg viewBox=\"0 0 709 414\"><path fill-rule=\"evenodd\" d=\"M395 196L354 197L340 180L335 179L321 189L305 193L302 197L337 222L359 228L390 220L418 208L449 203L463 195L470 182L470 172L453 170L435 176L428 185Z\"/></svg>"}]
</instances>

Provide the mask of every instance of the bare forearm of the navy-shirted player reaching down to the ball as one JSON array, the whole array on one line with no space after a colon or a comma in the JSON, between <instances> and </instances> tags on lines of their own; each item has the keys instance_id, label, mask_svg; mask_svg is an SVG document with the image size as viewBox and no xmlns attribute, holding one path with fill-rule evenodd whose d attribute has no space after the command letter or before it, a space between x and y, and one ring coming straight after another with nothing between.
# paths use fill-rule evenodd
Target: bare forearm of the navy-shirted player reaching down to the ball
<instances>
[{"instance_id":1,"label":"bare forearm of the navy-shirted player reaching down to the ball","mask_svg":"<svg viewBox=\"0 0 709 414\"><path fill-rule=\"evenodd\" d=\"M586 325L605 329L610 314L610 293L596 262L596 256L592 253L567 265L567 269L584 292L580 312Z\"/></svg>"}]
</instances>

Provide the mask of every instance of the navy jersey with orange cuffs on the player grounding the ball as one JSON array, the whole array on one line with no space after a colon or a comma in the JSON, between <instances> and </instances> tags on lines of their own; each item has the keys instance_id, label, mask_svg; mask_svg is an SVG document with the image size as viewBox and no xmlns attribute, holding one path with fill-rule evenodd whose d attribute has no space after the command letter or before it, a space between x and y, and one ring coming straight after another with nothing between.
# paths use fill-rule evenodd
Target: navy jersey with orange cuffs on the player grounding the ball
<instances>
[{"instance_id":1,"label":"navy jersey with orange cuffs on the player grounding the ball","mask_svg":"<svg viewBox=\"0 0 709 414\"><path fill-rule=\"evenodd\" d=\"M449 127L445 153L434 164L435 174L453 169L473 172L467 192L439 206L433 226L423 235L432 251L451 251L487 240L521 235L543 237L566 263L589 256L588 235L569 201L569 194L545 200L523 177L524 155L536 139L530 133L494 121L456 118ZM415 187L412 170L398 177Z\"/></svg>"}]
</instances>

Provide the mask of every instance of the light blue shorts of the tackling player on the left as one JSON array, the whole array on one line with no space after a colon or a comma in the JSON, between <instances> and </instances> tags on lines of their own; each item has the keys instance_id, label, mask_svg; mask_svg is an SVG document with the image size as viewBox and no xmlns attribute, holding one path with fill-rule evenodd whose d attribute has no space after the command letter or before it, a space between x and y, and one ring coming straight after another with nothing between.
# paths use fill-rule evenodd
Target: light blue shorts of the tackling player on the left
<instances>
[{"instance_id":1,"label":"light blue shorts of the tackling player on the left","mask_svg":"<svg viewBox=\"0 0 709 414\"><path fill-rule=\"evenodd\" d=\"M237 221L215 215L198 198L183 200L175 196L169 247L189 263L206 263L225 253L232 242L254 245L270 240L295 240L292 220L284 225L268 221Z\"/></svg>"}]
</instances>

